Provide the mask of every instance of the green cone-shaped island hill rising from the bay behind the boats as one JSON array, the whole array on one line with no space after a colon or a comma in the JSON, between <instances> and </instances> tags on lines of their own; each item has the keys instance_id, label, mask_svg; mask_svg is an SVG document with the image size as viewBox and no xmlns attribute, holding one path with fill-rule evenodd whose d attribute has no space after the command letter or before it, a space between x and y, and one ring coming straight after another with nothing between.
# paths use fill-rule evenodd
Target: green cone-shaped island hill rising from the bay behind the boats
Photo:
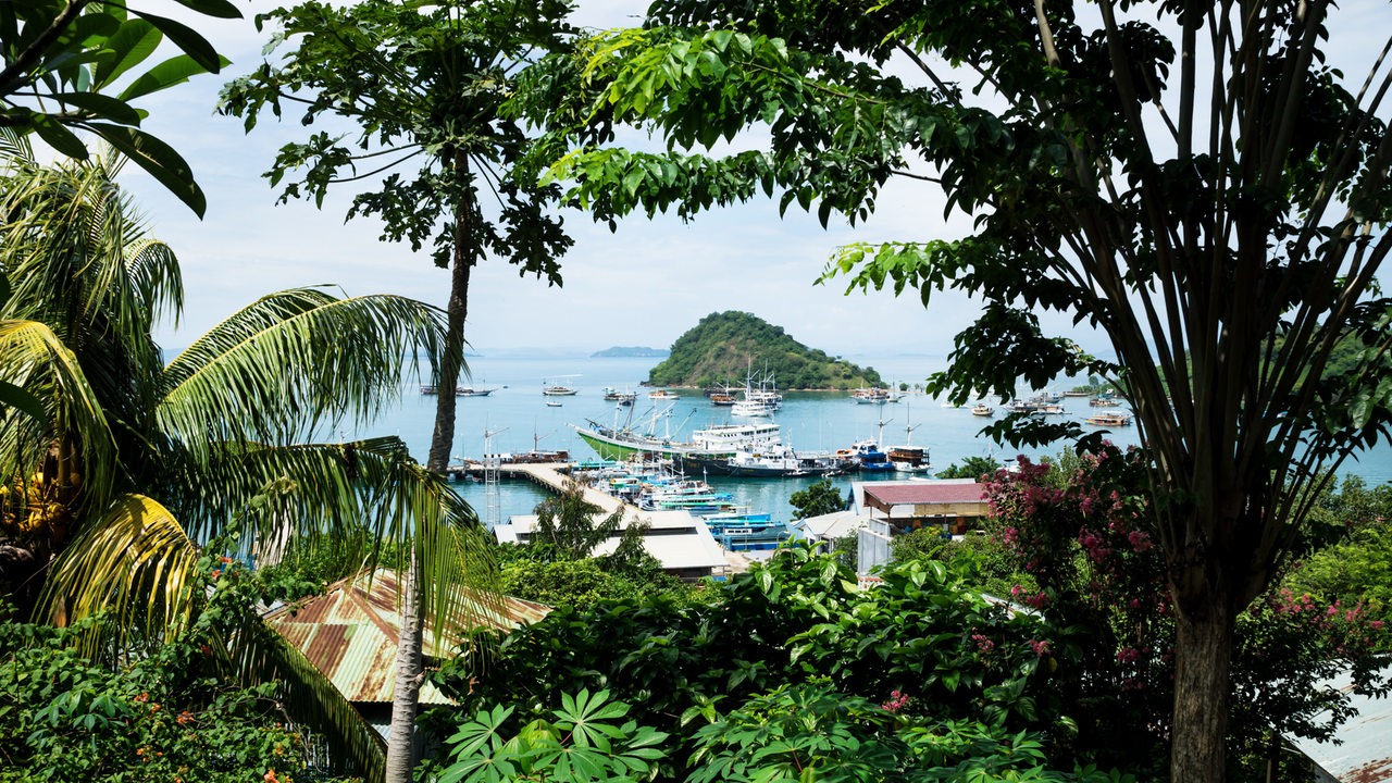
<instances>
[{"instance_id":1,"label":"green cone-shaped island hill rising from the bay behind the boats","mask_svg":"<svg viewBox=\"0 0 1392 783\"><path fill-rule=\"evenodd\" d=\"M880 386L880 373L809 348L748 312L715 312L672 343L671 354L649 372L653 386L743 386L753 373L778 389L859 389Z\"/></svg>"}]
</instances>

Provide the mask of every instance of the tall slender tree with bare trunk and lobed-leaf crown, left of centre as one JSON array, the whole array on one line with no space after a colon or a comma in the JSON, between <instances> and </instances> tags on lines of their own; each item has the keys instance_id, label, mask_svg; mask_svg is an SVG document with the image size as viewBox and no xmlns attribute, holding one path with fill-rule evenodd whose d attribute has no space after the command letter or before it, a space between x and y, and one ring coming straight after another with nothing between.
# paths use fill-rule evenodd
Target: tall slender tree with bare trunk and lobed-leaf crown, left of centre
<instances>
[{"instance_id":1,"label":"tall slender tree with bare trunk and lobed-leaf crown, left of centre","mask_svg":"<svg viewBox=\"0 0 1392 783\"><path fill-rule=\"evenodd\" d=\"M487 254L505 256L523 274L561 283L557 258L571 240L560 219L546 213L560 189L518 170L530 142L498 109L528 59L562 46L569 10L564 0L447 0L429 7L363 0L348 8L309 1L277 8L258 24L278 24L277 43L295 47L280 65L264 63L223 91L221 110L245 117L248 132L262 111L280 117L287 103L303 109L306 127L326 114L358 124L352 144L317 131L285 145L267 177L273 187L285 183L281 201L313 198L322 205L330 185L391 171L379 189L354 196L348 217L379 216L383 240L406 240L412 251L429 242L436 265L451 270L440 389L459 380L469 277ZM420 167L413 178L402 178L395 170L412 160ZM493 220L483 210L484 189L497 201ZM438 394L430 471L448 467L454 431L455 396ZM416 577L412 561L402 591L388 751L388 779L395 783L411 776L423 679Z\"/></svg>"}]
</instances>

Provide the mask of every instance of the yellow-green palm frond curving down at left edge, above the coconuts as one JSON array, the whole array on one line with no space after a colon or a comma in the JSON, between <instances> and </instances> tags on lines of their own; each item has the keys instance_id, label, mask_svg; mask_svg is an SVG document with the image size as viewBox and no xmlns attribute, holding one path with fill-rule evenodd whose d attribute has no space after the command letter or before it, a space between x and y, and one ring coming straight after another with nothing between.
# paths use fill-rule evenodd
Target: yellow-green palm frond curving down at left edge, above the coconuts
<instances>
[{"instance_id":1,"label":"yellow-green palm frond curving down at left edge, above the coconuts","mask_svg":"<svg viewBox=\"0 0 1392 783\"><path fill-rule=\"evenodd\" d=\"M40 400L46 412L0 421L0 476L28 476L52 449L71 449L82 496L104 506L120 461L106 412L72 351L43 323L0 320L0 380Z\"/></svg>"}]
</instances>

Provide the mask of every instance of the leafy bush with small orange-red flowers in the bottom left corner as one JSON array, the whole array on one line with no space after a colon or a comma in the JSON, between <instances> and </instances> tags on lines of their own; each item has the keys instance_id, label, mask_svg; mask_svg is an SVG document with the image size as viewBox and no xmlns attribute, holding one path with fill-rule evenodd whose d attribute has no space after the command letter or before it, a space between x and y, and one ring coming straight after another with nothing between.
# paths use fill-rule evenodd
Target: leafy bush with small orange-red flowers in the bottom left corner
<instances>
[{"instance_id":1,"label":"leafy bush with small orange-red flowers in the bottom left corner","mask_svg":"<svg viewBox=\"0 0 1392 783\"><path fill-rule=\"evenodd\" d=\"M239 687L223 646L251 603L303 585L226 557L199 571L207 599L193 624L131 665L77 652L100 616L71 628L0 623L0 780L290 783L306 770L283 688Z\"/></svg>"}]
</instances>

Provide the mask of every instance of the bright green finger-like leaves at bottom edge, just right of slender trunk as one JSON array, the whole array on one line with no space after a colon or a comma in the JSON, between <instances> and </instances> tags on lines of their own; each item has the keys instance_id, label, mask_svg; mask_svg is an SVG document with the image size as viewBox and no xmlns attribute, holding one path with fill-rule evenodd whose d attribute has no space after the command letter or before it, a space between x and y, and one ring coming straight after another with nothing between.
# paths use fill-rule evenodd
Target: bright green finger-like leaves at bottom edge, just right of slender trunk
<instances>
[{"instance_id":1,"label":"bright green finger-like leaves at bottom edge, just right of slender trunk","mask_svg":"<svg viewBox=\"0 0 1392 783\"><path fill-rule=\"evenodd\" d=\"M498 783L501 780L639 782L657 773L657 747L667 734L632 720L628 705L608 691L562 694L551 719L536 719L504 738L501 727L511 706L480 711L448 738L450 763L438 783Z\"/></svg>"}]
</instances>

